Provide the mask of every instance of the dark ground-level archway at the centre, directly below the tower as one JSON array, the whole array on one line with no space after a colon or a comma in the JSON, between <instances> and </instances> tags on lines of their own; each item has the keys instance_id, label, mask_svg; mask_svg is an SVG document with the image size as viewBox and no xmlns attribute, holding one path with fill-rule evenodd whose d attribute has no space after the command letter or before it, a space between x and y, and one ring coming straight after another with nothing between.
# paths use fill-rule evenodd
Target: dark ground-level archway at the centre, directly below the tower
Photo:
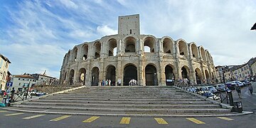
<instances>
[{"instance_id":1,"label":"dark ground-level archway at the centre, directly below the tower","mask_svg":"<svg viewBox=\"0 0 256 128\"><path fill-rule=\"evenodd\" d=\"M129 64L124 68L124 85L129 85L130 80L137 80L137 68Z\"/></svg>"}]
</instances>

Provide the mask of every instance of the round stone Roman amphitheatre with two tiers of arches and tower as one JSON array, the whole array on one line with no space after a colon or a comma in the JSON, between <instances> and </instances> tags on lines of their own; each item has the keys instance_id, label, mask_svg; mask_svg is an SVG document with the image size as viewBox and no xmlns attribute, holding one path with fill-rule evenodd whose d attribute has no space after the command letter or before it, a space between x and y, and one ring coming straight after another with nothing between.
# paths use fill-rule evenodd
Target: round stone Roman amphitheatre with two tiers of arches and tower
<instances>
[{"instance_id":1,"label":"round stone Roman amphitheatre with two tiers of arches and tower","mask_svg":"<svg viewBox=\"0 0 256 128\"><path fill-rule=\"evenodd\" d=\"M187 78L191 84L216 79L209 51L183 39L140 34L139 15L119 16L118 34L81 43L69 50L60 69L60 84L170 85Z\"/></svg>"}]
</instances>

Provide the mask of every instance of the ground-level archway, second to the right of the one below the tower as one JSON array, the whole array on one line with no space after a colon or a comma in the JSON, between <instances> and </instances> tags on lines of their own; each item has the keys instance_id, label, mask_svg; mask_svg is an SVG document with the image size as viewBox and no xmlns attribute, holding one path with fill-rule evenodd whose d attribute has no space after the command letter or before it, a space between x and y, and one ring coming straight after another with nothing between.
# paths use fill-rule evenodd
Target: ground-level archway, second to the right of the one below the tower
<instances>
[{"instance_id":1,"label":"ground-level archway, second to the right of the one below the tower","mask_svg":"<svg viewBox=\"0 0 256 128\"><path fill-rule=\"evenodd\" d=\"M174 69L170 65L166 65L164 73L166 75L166 85L174 85Z\"/></svg>"}]
</instances>

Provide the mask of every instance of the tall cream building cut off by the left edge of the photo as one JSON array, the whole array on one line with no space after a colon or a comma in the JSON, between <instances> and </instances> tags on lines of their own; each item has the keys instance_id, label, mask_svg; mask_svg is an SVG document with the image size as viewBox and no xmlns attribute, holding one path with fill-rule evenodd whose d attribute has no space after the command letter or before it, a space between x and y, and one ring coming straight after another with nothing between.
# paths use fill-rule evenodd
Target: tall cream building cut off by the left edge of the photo
<instances>
[{"instance_id":1,"label":"tall cream building cut off by the left edge of the photo","mask_svg":"<svg viewBox=\"0 0 256 128\"><path fill-rule=\"evenodd\" d=\"M0 89L6 90L6 82L9 81L11 73L9 72L9 64L11 61L4 55L0 54Z\"/></svg>"}]
</instances>

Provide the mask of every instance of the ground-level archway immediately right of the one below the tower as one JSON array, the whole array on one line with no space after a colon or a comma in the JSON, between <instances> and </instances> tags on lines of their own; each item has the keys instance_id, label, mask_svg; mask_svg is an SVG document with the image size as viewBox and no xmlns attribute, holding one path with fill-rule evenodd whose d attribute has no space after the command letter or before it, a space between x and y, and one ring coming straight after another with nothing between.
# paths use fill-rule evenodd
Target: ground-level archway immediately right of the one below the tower
<instances>
[{"instance_id":1,"label":"ground-level archway immediately right of the one below the tower","mask_svg":"<svg viewBox=\"0 0 256 128\"><path fill-rule=\"evenodd\" d=\"M145 69L146 85L158 85L156 68L154 65L146 65Z\"/></svg>"}]
</instances>

